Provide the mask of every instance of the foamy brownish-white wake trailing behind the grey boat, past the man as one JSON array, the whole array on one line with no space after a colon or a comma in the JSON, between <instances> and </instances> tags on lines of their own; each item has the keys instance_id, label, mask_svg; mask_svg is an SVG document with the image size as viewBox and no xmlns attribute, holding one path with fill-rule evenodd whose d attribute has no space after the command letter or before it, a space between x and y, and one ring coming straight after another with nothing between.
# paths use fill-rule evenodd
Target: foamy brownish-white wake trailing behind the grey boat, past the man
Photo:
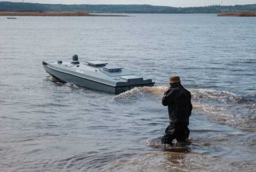
<instances>
[{"instance_id":1,"label":"foamy brownish-white wake trailing behind the grey boat, past the man","mask_svg":"<svg viewBox=\"0 0 256 172\"><path fill-rule=\"evenodd\" d=\"M160 99L168 86L140 87L126 91L114 97L115 101L131 102L140 98ZM256 117L256 105L253 100L247 100L236 96L228 91L209 90L209 89L190 89L192 95L192 104L194 110L198 110L207 116L212 122L221 124L235 125L240 127L249 127L252 123L251 130L256 129L254 119ZM237 110L239 107L239 110ZM248 110L251 110L248 115Z\"/></svg>"}]
</instances>

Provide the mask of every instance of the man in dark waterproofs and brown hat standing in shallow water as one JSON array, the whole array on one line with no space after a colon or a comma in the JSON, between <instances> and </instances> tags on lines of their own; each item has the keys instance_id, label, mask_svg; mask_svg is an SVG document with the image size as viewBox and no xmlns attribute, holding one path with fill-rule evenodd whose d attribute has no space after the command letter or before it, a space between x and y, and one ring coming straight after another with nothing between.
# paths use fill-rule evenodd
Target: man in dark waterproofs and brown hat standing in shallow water
<instances>
[{"instance_id":1,"label":"man in dark waterproofs and brown hat standing in shallow water","mask_svg":"<svg viewBox=\"0 0 256 172\"><path fill-rule=\"evenodd\" d=\"M172 145L172 140L184 142L189 137L189 116L192 111L191 94L180 83L180 77L169 78L169 89L165 92L162 104L168 106L169 125L162 137L162 143Z\"/></svg>"}]
</instances>

